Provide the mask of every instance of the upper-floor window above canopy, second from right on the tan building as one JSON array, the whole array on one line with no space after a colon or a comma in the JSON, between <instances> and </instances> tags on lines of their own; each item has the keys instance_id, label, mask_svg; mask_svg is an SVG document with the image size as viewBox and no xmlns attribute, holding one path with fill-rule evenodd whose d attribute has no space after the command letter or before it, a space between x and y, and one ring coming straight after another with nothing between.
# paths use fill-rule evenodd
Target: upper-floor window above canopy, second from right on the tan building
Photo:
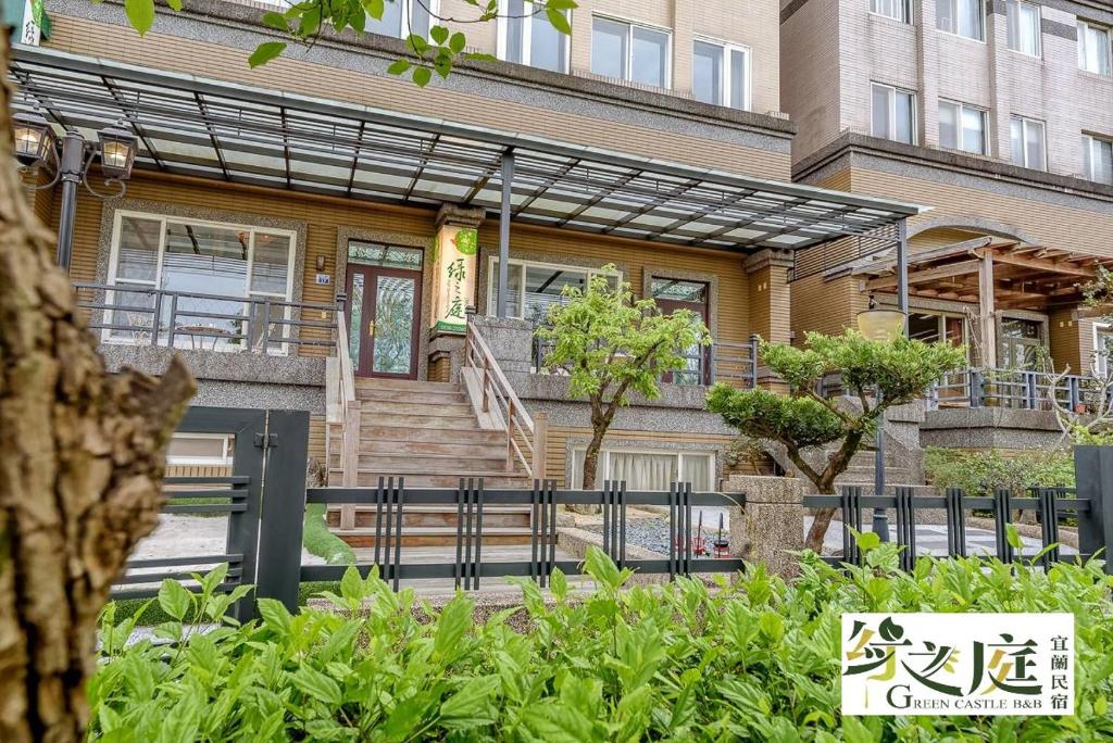
<instances>
[{"instance_id":1,"label":"upper-floor window above canopy, second from right on the tan building","mask_svg":"<svg viewBox=\"0 0 1113 743\"><path fill-rule=\"evenodd\" d=\"M595 17L591 23L591 71L657 88L669 87L669 33Z\"/></svg>"}]
</instances>

